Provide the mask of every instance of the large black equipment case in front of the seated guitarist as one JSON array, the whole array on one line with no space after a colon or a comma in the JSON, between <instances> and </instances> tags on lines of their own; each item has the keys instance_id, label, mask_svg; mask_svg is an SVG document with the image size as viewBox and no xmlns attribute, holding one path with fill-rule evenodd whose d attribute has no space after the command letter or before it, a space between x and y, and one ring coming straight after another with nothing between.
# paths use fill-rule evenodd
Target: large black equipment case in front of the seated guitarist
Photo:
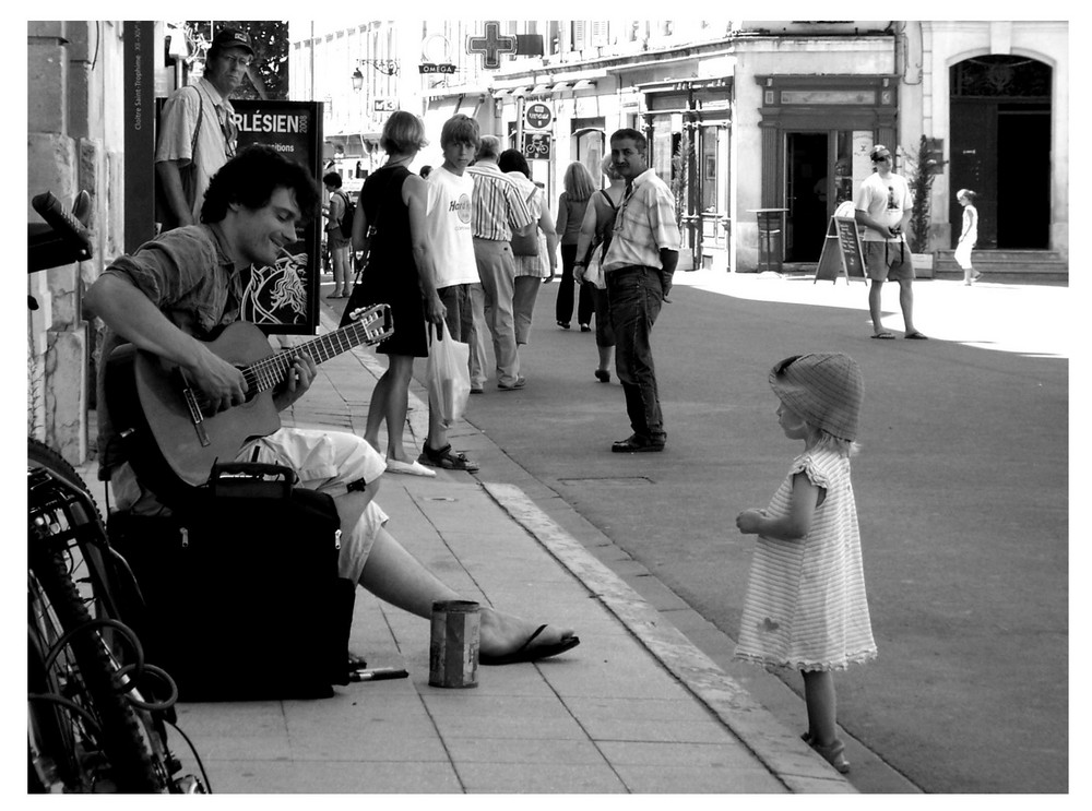
<instances>
[{"instance_id":1,"label":"large black equipment case in front of the seated guitarist","mask_svg":"<svg viewBox=\"0 0 1092 811\"><path fill-rule=\"evenodd\" d=\"M286 467L219 465L170 515L109 516L139 595L122 619L181 701L321 699L348 683L356 584L333 499Z\"/></svg>"}]
</instances>

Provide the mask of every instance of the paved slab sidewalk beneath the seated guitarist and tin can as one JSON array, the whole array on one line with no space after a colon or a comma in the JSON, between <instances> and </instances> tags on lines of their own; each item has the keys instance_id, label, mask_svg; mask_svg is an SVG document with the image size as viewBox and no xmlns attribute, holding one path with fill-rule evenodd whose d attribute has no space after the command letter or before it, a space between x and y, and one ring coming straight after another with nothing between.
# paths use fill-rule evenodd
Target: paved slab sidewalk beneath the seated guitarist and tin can
<instances>
[{"instance_id":1,"label":"paved slab sidewalk beneath the seated guitarist and tin can","mask_svg":"<svg viewBox=\"0 0 1092 811\"><path fill-rule=\"evenodd\" d=\"M335 326L324 301L322 325ZM383 368L371 349L332 358L285 425L363 434ZM423 396L414 383L417 448ZM450 437L475 457L491 445L466 422ZM215 792L853 792L800 730L487 465L474 476L387 475L377 501L392 534L464 596L571 627L581 645L535 665L479 668L475 689L431 688L428 622L359 589L353 649L410 678L339 687L324 701L179 704ZM292 655L290 640L264 666L277 655ZM177 735L173 748L195 770Z\"/></svg>"}]
</instances>

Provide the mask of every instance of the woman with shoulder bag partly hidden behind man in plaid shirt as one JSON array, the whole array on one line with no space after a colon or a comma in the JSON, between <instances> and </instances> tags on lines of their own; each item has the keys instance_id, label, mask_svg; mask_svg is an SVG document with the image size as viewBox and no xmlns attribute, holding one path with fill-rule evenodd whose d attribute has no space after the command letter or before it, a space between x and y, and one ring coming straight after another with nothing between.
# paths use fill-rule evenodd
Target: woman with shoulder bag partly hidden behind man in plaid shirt
<instances>
[{"instance_id":1,"label":"woman with shoulder bag partly hidden behind man in plaid shirt","mask_svg":"<svg viewBox=\"0 0 1092 811\"><path fill-rule=\"evenodd\" d=\"M610 312L607 302L606 285L603 283L603 271L600 261L610 245L614 234L615 214L626 195L626 179L614 168L610 156L603 158L600 167L604 177L610 181L606 189L592 194L590 205L580 226L580 239L577 243L577 261L572 275L577 284L590 283L595 307L595 347L600 354L600 365L595 368L595 379L601 383L610 382L610 356L614 350L615 336L610 329ZM590 267L591 265L591 267ZM594 282L589 279L589 270L596 274Z\"/></svg>"}]
</instances>

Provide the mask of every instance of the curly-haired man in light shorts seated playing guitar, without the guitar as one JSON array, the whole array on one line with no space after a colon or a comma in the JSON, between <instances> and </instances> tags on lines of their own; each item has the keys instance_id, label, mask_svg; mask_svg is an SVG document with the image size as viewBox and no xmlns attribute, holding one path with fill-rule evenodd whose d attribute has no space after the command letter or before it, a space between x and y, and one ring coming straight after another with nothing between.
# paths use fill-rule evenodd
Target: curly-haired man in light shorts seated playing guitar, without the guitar
<instances>
[{"instance_id":1,"label":"curly-haired man in light shorts seated playing guitar, without the guitar","mask_svg":"<svg viewBox=\"0 0 1092 811\"><path fill-rule=\"evenodd\" d=\"M88 288L84 303L107 327L98 369L99 476L111 482L119 509L150 513L163 508L126 458L119 432L128 426L112 421L117 409L108 405L107 359L131 344L140 357L173 368L170 377L182 381L191 392L190 406L199 412L191 424L195 443L212 442L201 436L205 418L213 424L222 414L246 409L261 387L235 362L229 347L217 346L223 339L216 338L217 330L226 327L227 336L246 326L238 322L245 272L254 263L273 264L282 248L296 241L297 224L318 206L317 184L302 166L272 148L248 147L213 177L200 225L167 231L115 260ZM297 347L264 397L274 412L283 409L302 396L314 374L314 358ZM248 415L244 421L253 420ZM280 464L296 472L300 486L329 492L341 518L340 576L423 618L431 616L434 601L460 599L385 529L388 516L373 500L385 462L364 439L271 428L245 436L234 460L217 458ZM169 455L169 449L159 450ZM186 480L182 474L179 478ZM541 659L577 644L571 630L482 609L482 664Z\"/></svg>"}]
</instances>

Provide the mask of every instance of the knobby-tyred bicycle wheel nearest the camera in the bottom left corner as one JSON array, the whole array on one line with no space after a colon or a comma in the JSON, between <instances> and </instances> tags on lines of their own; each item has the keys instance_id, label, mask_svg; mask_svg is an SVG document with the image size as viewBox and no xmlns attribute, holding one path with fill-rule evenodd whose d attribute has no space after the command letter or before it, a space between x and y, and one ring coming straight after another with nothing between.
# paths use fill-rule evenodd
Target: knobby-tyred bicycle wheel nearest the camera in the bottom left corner
<instances>
[{"instance_id":1,"label":"knobby-tyred bicycle wheel nearest the camera in the bottom left corner","mask_svg":"<svg viewBox=\"0 0 1092 811\"><path fill-rule=\"evenodd\" d=\"M31 547L27 735L39 785L29 788L165 791L167 775L152 759L146 728L119 692L116 663L64 554L41 542Z\"/></svg>"}]
</instances>

